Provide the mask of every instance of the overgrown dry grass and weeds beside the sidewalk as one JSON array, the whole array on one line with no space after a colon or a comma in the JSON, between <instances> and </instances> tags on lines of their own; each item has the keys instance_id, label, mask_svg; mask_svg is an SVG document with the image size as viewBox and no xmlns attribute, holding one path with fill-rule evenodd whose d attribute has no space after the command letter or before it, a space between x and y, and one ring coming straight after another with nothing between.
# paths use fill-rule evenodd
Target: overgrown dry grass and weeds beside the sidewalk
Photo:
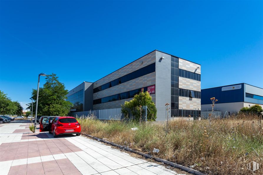
<instances>
[{"instance_id":1,"label":"overgrown dry grass and weeds beside the sidewalk","mask_svg":"<svg viewBox=\"0 0 263 175\"><path fill-rule=\"evenodd\" d=\"M210 127L207 120L179 119L169 122L168 132L164 125L151 123L78 121L84 133L145 153L157 148L156 156L184 166L196 164L194 169L207 174L252 174L247 169L251 161L259 163L255 173L263 174L263 123L258 118L214 119Z\"/></svg>"}]
</instances>

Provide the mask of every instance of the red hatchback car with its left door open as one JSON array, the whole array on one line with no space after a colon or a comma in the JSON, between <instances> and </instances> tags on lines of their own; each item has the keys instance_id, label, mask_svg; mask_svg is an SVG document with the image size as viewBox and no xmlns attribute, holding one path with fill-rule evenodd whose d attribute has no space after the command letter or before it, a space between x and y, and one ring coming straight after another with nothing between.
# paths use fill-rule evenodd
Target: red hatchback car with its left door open
<instances>
[{"instance_id":1,"label":"red hatchback car with its left door open","mask_svg":"<svg viewBox=\"0 0 263 175\"><path fill-rule=\"evenodd\" d=\"M39 125L40 132L49 131L54 137L63 134L80 135L81 127L74 117L56 117L50 121L47 117L43 117Z\"/></svg>"}]
</instances>

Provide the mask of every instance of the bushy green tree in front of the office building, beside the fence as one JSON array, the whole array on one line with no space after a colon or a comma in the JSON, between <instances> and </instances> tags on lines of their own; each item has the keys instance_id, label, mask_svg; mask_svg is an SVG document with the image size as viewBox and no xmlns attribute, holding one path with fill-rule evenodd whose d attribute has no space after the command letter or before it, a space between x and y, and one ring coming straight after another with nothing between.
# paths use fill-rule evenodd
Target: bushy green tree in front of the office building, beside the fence
<instances>
[{"instance_id":1,"label":"bushy green tree in front of the office building, beside the fence","mask_svg":"<svg viewBox=\"0 0 263 175\"><path fill-rule=\"evenodd\" d=\"M140 120L140 106L147 106L147 120L148 121L155 121L156 120L156 114L157 109L155 107L154 102L152 101L152 97L150 94L146 92L140 92L139 94L136 94L132 100L125 101L122 105L122 112L125 114L125 116L128 116L128 111L131 111L132 114L135 116L135 120ZM134 110L136 109L136 110ZM145 112L142 110L142 112Z\"/></svg>"}]
</instances>

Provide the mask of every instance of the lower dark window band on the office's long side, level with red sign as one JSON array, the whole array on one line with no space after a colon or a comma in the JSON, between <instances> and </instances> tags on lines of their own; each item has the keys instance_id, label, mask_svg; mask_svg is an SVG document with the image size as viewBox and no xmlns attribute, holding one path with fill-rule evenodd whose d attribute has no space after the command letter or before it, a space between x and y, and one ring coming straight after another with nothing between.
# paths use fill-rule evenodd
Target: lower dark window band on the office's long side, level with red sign
<instances>
[{"instance_id":1,"label":"lower dark window band on the office's long side, level with red sign","mask_svg":"<svg viewBox=\"0 0 263 175\"><path fill-rule=\"evenodd\" d=\"M151 85L151 86L155 86L155 85ZM107 103L110 101L133 98L136 94L139 94L142 90L144 92L146 92L148 87L150 87L150 86L139 88L139 89L134 89L134 90L127 91L127 92L122 92L120 94L115 94L115 95L103 97L101 99L95 99L95 100L93 100L93 104L101 104L101 103ZM155 91L151 91L150 94L155 94Z\"/></svg>"}]
</instances>

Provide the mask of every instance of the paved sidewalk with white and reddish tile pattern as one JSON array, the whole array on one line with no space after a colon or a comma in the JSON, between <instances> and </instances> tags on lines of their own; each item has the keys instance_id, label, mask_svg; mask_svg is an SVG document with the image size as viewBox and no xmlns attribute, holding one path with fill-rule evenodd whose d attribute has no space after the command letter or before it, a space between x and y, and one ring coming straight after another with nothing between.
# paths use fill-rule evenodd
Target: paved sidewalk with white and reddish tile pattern
<instances>
[{"instance_id":1,"label":"paved sidewalk with white and reddish tile pattern","mask_svg":"<svg viewBox=\"0 0 263 175\"><path fill-rule=\"evenodd\" d=\"M26 120L0 124L1 175L177 174L83 136L32 133L30 124Z\"/></svg>"}]
</instances>

